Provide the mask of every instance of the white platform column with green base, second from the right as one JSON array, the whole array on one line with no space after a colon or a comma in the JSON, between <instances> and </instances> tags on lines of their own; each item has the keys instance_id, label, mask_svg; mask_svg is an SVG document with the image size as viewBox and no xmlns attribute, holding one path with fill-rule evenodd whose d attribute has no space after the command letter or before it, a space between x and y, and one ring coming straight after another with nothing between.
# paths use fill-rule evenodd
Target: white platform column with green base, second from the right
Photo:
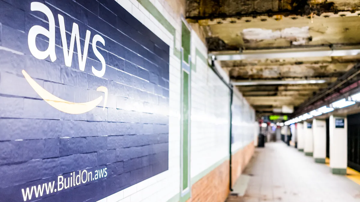
<instances>
[{"instance_id":1,"label":"white platform column with green base, second from the right","mask_svg":"<svg viewBox=\"0 0 360 202\"><path fill-rule=\"evenodd\" d=\"M312 120L314 134L314 159L317 163L325 164L326 159L326 121Z\"/></svg>"}]
</instances>

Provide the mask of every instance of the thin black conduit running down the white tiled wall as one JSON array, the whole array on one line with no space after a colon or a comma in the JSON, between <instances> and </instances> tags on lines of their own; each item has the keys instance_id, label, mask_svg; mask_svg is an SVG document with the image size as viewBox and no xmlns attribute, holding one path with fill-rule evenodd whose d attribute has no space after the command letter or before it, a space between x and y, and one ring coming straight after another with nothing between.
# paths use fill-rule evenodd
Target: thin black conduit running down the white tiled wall
<instances>
[{"instance_id":1,"label":"thin black conduit running down the white tiled wall","mask_svg":"<svg viewBox=\"0 0 360 202\"><path fill-rule=\"evenodd\" d=\"M232 164L231 164L231 163L232 163L232 161L231 161L231 159L232 159L232 157L231 157L232 124L231 124L231 121L232 121L232 119L233 119L233 111L232 111L232 107L231 107L231 106L233 105L233 93L234 93L234 92L233 92L233 85L231 85L231 83L227 83L227 82L225 81L225 79L222 78L222 76L220 75L220 73L217 71L217 69L216 69L216 67L215 67L215 57L212 57L211 65L209 65L209 66L210 66L210 68L212 69L212 71L217 75L217 77L220 78L220 80L222 81L222 83L224 83L225 86L228 87L229 90L230 90L229 189L230 189L230 191L233 191L232 180L231 180L231 178L232 178L232 172L231 172L231 169L232 169Z\"/></svg>"}]
</instances>

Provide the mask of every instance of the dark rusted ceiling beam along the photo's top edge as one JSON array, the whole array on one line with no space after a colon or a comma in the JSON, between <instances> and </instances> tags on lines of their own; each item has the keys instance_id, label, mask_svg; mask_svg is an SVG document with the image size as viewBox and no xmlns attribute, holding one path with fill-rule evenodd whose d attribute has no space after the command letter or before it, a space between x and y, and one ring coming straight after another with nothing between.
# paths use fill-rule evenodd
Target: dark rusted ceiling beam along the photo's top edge
<instances>
[{"instance_id":1,"label":"dark rusted ceiling beam along the photo's top edge","mask_svg":"<svg viewBox=\"0 0 360 202\"><path fill-rule=\"evenodd\" d=\"M358 0L327 1L327 0L188 0L186 2L186 18L204 20L216 18L243 18L259 16L273 17L276 15L307 16L323 13L350 12L355 13Z\"/></svg>"}]
</instances>

